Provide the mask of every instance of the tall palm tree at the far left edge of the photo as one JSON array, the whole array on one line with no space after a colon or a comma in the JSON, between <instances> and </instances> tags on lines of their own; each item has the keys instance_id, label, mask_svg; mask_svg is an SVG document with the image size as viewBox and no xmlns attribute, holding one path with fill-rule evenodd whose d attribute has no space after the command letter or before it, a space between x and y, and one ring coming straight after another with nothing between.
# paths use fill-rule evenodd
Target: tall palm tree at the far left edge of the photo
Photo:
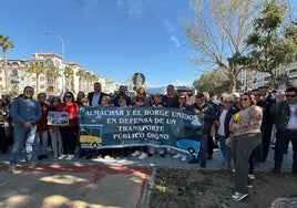
<instances>
[{"instance_id":1,"label":"tall palm tree at the far left edge of the photo","mask_svg":"<svg viewBox=\"0 0 297 208\"><path fill-rule=\"evenodd\" d=\"M9 73L8 73L8 66L7 66L7 50L13 49L14 44L9 41L9 37L6 37L3 34L0 34L0 46L2 48L2 55L4 61L4 80L6 80L6 91L9 92L10 83L9 83Z\"/></svg>"}]
</instances>

